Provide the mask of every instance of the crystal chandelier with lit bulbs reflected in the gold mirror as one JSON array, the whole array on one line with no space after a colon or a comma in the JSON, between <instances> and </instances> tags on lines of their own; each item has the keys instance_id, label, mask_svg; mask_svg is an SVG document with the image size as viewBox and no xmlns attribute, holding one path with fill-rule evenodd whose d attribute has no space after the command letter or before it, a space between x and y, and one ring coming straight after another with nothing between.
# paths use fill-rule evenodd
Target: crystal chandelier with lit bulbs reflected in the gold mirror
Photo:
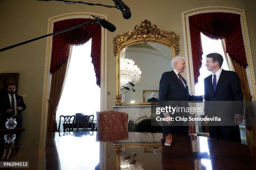
<instances>
[{"instance_id":1,"label":"crystal chandelier with lit bulbs reflected in the gold mirror","mask_svg":"<svg viewBox=\"0 0 256 170\"><path fill-rule=\"evenodd\" d=\"M120 53L120 86L127 84L128 82L133 82L136 84L140 82L141 70L137 65L134 65L134 61L125 58L124 48Z\"/></svg>"}]
</instances>

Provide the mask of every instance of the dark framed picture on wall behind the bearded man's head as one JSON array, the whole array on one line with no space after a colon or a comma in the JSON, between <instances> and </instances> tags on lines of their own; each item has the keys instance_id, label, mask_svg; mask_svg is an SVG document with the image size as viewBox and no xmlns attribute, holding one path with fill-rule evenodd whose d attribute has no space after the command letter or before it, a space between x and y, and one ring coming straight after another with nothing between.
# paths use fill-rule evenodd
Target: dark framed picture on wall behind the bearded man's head
<instances>
[{"instance_id":1,"label":"dark framed picture on wall behind the bearded man's head","mask_svg":"<svg viewBox=\"0 0 256 170\"><path fill-rule=\"evenodd\" d=\"M17 86L16 93L18 92L18 80L19 73L0 73L0 90L3 88L3 85L9 83L15 83Z\"/></svg>"}]
</instances>

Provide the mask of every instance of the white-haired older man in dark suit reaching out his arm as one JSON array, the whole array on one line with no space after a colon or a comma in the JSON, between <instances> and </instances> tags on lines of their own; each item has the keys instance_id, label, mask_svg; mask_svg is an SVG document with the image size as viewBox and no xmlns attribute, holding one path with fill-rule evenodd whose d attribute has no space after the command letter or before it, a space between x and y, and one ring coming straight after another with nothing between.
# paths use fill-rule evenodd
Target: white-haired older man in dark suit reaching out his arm
<instances>
[{"instance_id":1,"label":"white-haired older man in dark suit reaching out his arm","mask_svg":"<svg viewBox=\"0 0 256 170\"><path fill-rule=\"evenodd\" d=\"M171 107L176 107L176 103L178 103L178 105L183 105L183 107L188 107L188 103L184 105L182 102L177 101L202 101L202 95L189 95L187 81L180 75L186 68L184 57L174 57L171 63L173 70L164 72L159 83L159 101L174 101L174 104ZM161 117L169 116L169 112L161 114ZM185 113L185 117L188 117L187 113ZM188 133L188 125L174 125L174 122L163 122L163 134L188 135Z\"/></svg>"}]
</instances>

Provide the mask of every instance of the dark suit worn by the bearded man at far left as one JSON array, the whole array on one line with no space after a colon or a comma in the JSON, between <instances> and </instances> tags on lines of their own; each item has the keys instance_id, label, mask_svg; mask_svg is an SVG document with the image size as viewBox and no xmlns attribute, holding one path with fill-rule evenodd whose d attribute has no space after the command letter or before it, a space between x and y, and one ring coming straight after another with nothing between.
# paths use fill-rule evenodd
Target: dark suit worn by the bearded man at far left
<instances>
[{"instance_id":1,"label":"dark suit worn by the bearded man at far left","mask_svg":"<svg viewBox=\"0 0 256 170\"><path fill-rule=\"evenodd\" d=\"M22 107L22 110L17 110L17 126L16 128L21 128L22 127L22 117L21 117L21 112L26 109L26 105L23 101L23 97L15 94L16 97L16 102L17 102L17 107ZM2 97L1 100L1 115L0 115L0 127L3 128L5 127L5 122L7 121L7 118L11 117L11 113L6 112L8 109L11 108L10 104L10 99L9 95L6 95L5 97Z\"/></svg>"}]
</instances>

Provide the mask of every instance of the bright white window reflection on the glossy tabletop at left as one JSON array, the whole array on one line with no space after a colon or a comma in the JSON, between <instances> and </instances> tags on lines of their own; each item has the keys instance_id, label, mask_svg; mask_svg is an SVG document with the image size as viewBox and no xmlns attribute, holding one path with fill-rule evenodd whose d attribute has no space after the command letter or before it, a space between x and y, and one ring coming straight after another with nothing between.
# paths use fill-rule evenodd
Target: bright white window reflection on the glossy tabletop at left
<instances>
[{"instance_id":1,"label":"bright white window reflection on the glossy tabletop at left","mask_svg":"<svg viewBox=\"0 0 256 170\"><path fill-rule=\"evenodd\" d=\"M95 132L80 132L55 138L61 170L86 167L94 170L100 162L100 143Z\"/></svg>"}]
</instances>

